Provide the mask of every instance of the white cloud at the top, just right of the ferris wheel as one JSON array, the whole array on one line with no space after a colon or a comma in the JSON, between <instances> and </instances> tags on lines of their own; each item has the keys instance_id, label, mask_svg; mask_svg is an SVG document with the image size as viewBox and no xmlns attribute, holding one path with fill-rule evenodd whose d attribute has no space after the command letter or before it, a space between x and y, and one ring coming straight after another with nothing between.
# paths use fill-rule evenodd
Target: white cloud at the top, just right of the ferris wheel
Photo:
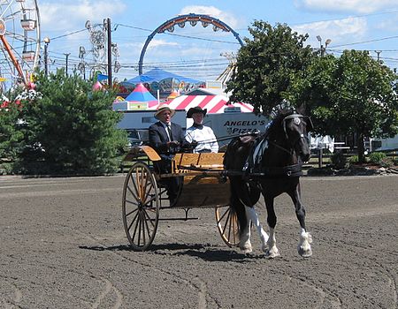
<instances>
[{"instance_id":1,"label":"white cloud at the top, just right of the ferris wheel","mask_svg":"<svg viewBox=\"0 0 398 309\"><path fill-rule=\"evenodd\" d=\"M94 24L102 23L100 16L116 16L126 11L121 0L75 0L41 2L42 31L73 31L83 28L87 20Z\"/></svg>"}]
</instances>

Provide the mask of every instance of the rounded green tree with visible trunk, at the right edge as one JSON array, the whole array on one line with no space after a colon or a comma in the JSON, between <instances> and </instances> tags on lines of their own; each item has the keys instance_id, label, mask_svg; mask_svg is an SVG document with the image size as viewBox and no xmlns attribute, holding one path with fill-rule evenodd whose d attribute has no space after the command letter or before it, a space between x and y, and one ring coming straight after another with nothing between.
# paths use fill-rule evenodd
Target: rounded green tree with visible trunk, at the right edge
<instances>
[{"instance_id":1,"label":"rounded green tree with visible trunk, at the right edge","mask_svg":"<svg viewBox=\"0 0 398 309\"><path fill-rule=\"evenodd\" d=\"M398 132L397 75L367 51L319 57L294 88L292 97L310 106L319 133L356 134L358 162L365 160L364 138Z\"/></svg>"}]
</instances>

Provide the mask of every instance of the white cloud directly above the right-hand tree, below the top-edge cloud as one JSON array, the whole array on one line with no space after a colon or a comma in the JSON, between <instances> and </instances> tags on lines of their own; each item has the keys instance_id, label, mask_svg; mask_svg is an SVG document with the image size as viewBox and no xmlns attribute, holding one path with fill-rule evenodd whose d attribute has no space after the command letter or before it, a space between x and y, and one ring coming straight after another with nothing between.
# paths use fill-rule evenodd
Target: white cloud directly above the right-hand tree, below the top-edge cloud
<instances>
[{"instance_id":1,"label":"white cloud directly above the right-hand tree, below the top-edge cloud","mask_svg":"<svg viewBox=\"0 0 398 309\"><path fill-rule=\"evenodd\" d=\"M295 26L294 30L299 34L310 34L307 42L312 46L319 46L317 35L324 41L331 39L333 45L340 45L352 42L353 38L363 38L367 31L367 23L364 18L336 19Z\"/></svg>"}]
</instances>

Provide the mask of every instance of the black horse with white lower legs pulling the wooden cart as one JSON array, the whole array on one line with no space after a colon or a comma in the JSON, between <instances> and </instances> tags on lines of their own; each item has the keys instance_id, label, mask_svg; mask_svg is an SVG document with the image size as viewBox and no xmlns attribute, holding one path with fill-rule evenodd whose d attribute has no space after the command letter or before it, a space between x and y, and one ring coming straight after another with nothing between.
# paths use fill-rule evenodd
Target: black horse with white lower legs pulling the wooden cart
<instances>
[{"instance_id":1,"label":"black horse with white lower legs pulling the wooden cart","mask_svg":"<svg viewBox=\"0 0 398 309\"><path fill-rule=\"evenodd\" d=\"M312 237L305 227L305 209L302 205L300 181L302 162L310 158L308 132L312 129L310 117L302 109L281 109L262 136L233 139L226 148L225 169L231 184L231 206L240 226L240 248L251 252L250 226L253 223L262 240L262 250L270 258L279 256L275 240L273 201L287 192L295 204L300 222L298 252L303 257L312 254ZM254 205L263 193L267 208L270 236L258 221ZM251 223L250 223L251 222Z\"/></svg>"}]
</instances>

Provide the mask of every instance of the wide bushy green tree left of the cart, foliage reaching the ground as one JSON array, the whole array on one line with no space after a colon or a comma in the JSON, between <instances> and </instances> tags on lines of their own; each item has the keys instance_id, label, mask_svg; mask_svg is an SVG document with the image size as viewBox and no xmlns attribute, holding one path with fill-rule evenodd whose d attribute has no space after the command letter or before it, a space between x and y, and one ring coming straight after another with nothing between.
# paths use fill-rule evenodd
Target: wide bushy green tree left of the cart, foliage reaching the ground
<instances>
[{"instance_id":1,"label":"wide bushy green tree left of the cart, foliage reaching the ground","mask_svg":"<svg viewBox=\"0 0 398 309\"><path fill-rule=\"evenodd\" d=\"M64 70L48 78L39 73L36 90L42 97L24 107L22 132L29 147L21 155L22 172L100 175L118 170L126 133L116 128L121 116L111 109L112 92L93 91L92 81L65 77Z\"/></svg>"}]
</instances>

